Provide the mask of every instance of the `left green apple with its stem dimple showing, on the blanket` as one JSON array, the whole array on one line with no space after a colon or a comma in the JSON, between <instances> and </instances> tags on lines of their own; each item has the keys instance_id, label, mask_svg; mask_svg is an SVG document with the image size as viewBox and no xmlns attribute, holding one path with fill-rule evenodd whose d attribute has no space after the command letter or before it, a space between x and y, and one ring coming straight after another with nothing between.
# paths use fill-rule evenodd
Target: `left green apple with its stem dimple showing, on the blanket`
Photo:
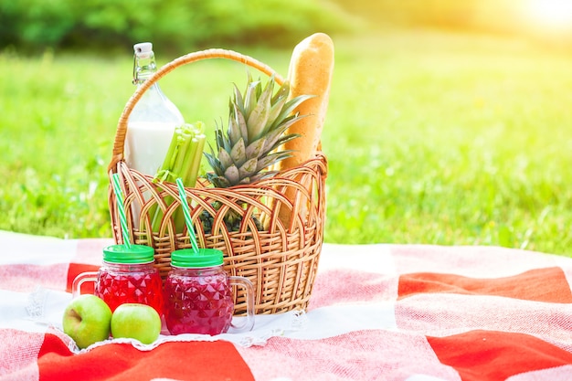
<instances>
[{"instance_id":1,"label":"left green apple with its stem dimple showing, on the blanket","mask_svg":"<svg viewBox=\"0 0 572 381\"><path fill-rule=\"evenodd\" d=\"M83 294L69 302L62 325L80 349L87 348L110 337L111 309L99 297Z\"/></svg>"}]
</instances>

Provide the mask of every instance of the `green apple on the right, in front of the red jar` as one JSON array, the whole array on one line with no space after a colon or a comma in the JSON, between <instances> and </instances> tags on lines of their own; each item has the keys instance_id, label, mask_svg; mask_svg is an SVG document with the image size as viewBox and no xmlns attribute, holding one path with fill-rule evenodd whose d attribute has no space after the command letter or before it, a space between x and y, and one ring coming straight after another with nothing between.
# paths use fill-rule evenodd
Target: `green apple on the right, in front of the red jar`
<instances>
[{"instance_id":1,"label":"green apple on the right, in front of the red jar","mask_svg":"<svg viewBox=\"0 0 572 381\"><path fill-rule=\"evenodd\" d=\"M161 333L161 316L151 306L141 303L125 303L111 316L113 338L127 337L151 344Z\"/></svg>"}]
</instances>

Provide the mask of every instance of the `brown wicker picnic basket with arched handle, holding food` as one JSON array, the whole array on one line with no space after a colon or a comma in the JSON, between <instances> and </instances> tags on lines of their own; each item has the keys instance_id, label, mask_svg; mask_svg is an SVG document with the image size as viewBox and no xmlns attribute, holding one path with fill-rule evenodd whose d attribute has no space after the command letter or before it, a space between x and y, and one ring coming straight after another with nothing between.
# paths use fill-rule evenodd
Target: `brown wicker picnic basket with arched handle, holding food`
<instances>
[{"instance_id":1,"label":"brown wicker picnic basket with arched handle, holding food","mask_svg":"<svg viewBox=\"0 0 572 381\"><path fill-rule=\"evenodd\" d=\"M207 58L234 60L265 75L274 75L279 84L283 82L278 73L254 58L231 50L207 49L176 58L158 69L125 105L108 168L110 181L111 175L119 175L131 241L154 248L155 266L163 278L171 268L171 252L191 247L189 235L186 228L182 233L175 232L173 215L181 207L176 185L156 184L153 176L143 175L125 163L123 143L127 121L134 105L154 82L178 67ZM256 289L256 313L305 310L310 302L323 244L326 175L326 158L323 153L317 153L304 164L254 184L215 188L201 179L196 187L185 188L199 247L222 250L223 267L228 274L252 281ZM288 188L291 188L288 194L293 192L295 196L284 196ZM165 202L166 199L170 201ZM216 202L220 207L213 206ZM111 185L109 206L113 237L122 243L117 198ZM134 216L132 206L138 206L140 216ZM152 231L148 212L157 206L163 211L163 219L159 230ZM281 208L290 212L289 220L279 217ZM229 231L225 225L225 215L231 210L242 217L238 231ZM210 231L203 227L201 217L205 214L212 217ZM260 221L262 230L257 228ZM235 304L236 314L246 312L244 291L235 291Z\"/></svg>"}]
</instances>

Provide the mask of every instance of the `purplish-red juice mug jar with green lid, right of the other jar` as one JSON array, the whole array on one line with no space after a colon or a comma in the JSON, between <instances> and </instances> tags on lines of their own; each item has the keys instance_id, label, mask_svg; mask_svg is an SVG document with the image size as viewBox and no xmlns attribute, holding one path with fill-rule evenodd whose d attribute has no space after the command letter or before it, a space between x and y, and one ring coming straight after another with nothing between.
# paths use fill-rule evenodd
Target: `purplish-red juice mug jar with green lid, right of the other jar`
<instances>
[{"instance_id":1,"label":"purplish-red juice mug jar with green lid, right of the other jar","mask_svg":"<svg viewBox=\"0 0 572 381\"><path fill-rule=\"evenodd\" d=\"M173 269L164 283L164 320L169 333L226 333L234 312L233 284L247 289L248 318L243 326L252 329L252 283L243 277L228 277L222 263L222 251L216 249L171 253Z\"/></svg>"}]
</instances>

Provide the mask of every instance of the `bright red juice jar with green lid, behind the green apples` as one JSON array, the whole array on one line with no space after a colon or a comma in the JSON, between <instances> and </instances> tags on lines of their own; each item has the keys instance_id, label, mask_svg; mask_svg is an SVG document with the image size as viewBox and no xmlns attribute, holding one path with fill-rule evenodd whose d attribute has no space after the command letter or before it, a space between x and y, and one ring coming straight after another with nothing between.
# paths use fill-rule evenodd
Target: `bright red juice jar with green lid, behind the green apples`
<instances>
[{"instance_id":1,"label":"bright red juice jar with green lid, behind the green apples","mask_svg":"<svg viewBox=\"0 0 572 381\"><path fill-rule=\"evenodd\" d=\"M143 245L112 245L103 249L103 266L95 282L95 295L111 312L123 303L150 305L163 313L163 281L154 268L154 249Z\"/></svg>"}]
</instances>

